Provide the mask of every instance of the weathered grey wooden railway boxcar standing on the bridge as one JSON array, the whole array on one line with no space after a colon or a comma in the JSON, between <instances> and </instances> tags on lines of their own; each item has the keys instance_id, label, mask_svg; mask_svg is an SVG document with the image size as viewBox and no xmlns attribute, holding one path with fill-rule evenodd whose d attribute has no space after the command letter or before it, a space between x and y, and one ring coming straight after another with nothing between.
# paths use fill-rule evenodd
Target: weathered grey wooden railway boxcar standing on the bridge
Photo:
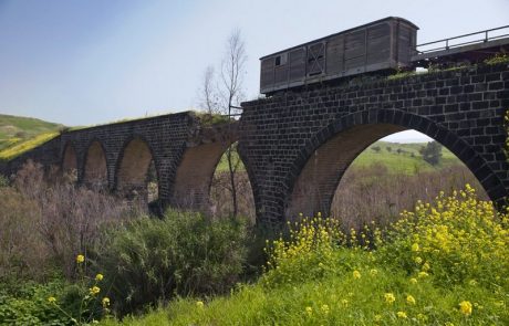
<instances>
[{"instance_id":1,"label":"weathered grey wooden railway boxcar standing on the bridge","mask_svg":"<svg viewBox=\"0 0 509 326\"><path fill-rule=\"evenodd\" d=\"M260 93L411 65L418 28L388 17L263 56Z\"/></svg>"}]
</instances>

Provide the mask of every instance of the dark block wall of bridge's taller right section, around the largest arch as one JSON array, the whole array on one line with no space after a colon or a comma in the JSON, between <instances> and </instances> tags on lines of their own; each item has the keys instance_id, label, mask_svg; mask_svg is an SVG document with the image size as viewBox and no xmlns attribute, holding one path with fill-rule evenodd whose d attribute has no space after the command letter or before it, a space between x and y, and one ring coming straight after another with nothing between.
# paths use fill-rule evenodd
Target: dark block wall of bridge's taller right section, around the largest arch
<instances>
[{"instance_id":1,"label":"dark block wall of bridge's taller right section, around the largest arch","mask_svg":"<svg viewBox=\"0 0 509 326\"><path fill-rule=\"evenodd\" d=\"M297 180L313 153L361 125L422 132L458 156L492 200L501 201L508 194L508 164L502 151L502 120L509 108L508 64L359 85L310 85L243 103L242 108L239 148L253 186L257 217L264 222L285 219ZM342 148L335 150L341 156Z\"/></svg>"}]
</instances>

